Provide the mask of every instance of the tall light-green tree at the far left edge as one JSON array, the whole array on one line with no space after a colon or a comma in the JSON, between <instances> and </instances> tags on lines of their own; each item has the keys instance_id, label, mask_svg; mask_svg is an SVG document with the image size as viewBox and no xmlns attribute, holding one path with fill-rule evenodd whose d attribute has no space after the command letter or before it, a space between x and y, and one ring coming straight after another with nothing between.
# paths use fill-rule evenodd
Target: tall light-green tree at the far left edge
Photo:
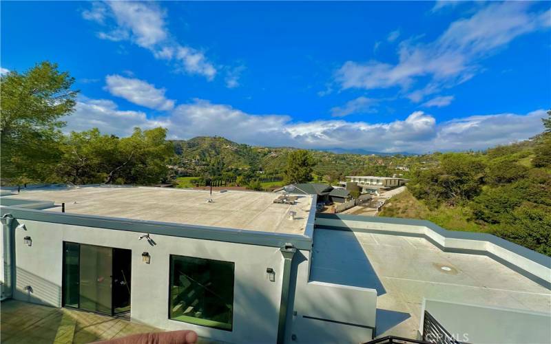
<instances>
[{"instance_id":1,"label":"tall light-green tree at the far left edge","mask_svg":"<svg viewBox=\"0 0 551 344\"><path fill-rule=\"evenodd\" d=\"M45 181L59 159L63 116L74 110L74 78L55 63L42 62L0 78L1 175Z\"/></svg>"}]
</instances>

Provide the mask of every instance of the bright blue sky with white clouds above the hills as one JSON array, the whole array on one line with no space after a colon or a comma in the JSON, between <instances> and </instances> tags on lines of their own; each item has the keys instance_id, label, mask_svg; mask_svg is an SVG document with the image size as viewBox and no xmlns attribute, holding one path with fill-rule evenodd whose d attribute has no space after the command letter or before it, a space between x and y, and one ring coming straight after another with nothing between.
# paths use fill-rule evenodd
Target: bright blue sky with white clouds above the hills
<instances>
[{"instance_id":1,"label":"bright blue sky with white clouds above the hills","mask_svg":"<svg viewBox=\"0 0 551 344\"><path fill-rule=\"evenodd\" d=\"M1 3L2 70L81 90L67 131L163 126L266 146L485 149L543 130L551 5Z\"/></svg>"}]
</instances>

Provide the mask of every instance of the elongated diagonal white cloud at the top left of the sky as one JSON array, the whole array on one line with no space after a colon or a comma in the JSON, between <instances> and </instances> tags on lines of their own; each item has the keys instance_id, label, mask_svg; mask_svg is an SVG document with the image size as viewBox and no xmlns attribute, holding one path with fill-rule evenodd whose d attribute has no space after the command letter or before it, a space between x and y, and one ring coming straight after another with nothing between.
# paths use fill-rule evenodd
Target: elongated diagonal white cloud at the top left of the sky
<instances>
[{"instance_id":1,"label":"elongated diagonal white cloud at the top left of the sky","mask_svg":"<svg viewBox=\"0 0 551 344\"><path fill-rule=\"evenodd\" d=\"M92 3L83 11L83 18L106 27L98 32L100 39L131 41L152 52L155 58L174 61L178 69L212 80L216 67L202 52L180 44L167 29L166 12L157 3L141 1L109 1Z\"/></svg>"}]
</instances>

